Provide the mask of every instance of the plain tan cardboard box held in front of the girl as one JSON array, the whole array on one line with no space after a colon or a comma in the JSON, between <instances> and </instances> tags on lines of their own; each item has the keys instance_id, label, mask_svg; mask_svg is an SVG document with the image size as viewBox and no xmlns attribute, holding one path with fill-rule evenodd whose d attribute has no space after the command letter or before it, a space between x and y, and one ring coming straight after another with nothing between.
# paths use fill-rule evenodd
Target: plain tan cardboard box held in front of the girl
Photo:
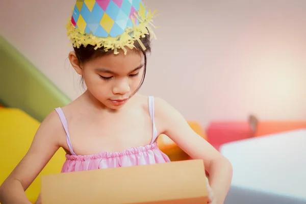
<instances>
[{"instance_id":1,"label":"plain tan cardboard box held in front of the girl","mask_svg":"<svg viewBox=\"0 0 306 204\"><path fill-rule=\"evenodd\" d=\"M43 204L207 203L202 160L43 175Z\"/></svg>"}]
</instances>

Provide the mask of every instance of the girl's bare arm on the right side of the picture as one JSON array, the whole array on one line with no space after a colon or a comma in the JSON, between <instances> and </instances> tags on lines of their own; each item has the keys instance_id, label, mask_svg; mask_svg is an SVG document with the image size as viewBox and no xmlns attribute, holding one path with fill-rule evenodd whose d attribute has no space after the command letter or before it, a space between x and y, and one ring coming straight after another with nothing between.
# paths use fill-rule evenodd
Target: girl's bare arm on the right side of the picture
<instances>
[{"instance_id":1,"label":"girl's bare arm on the right side of the picture","mask_svg":"<svg viewBox=\"0 0 306 204\"><path fill-rule=\"evenodd\" d=\"M214 203L223 203L232 182L231 163L210 143L197 135L177 110L160 98L155 100L157 129L172 139L190 157L204 161L216 199Z\"/></svg>"}]
</instances>

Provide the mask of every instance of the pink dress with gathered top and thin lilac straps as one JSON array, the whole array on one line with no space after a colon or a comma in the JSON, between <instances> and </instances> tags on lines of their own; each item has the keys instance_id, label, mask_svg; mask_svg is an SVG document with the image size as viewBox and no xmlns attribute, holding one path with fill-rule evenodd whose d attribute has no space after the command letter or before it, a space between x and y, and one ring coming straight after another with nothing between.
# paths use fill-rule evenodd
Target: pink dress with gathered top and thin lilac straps
<instances>
[{"instance_id":1,"label":"pink dress with gathered top and thin lilac straps","mask_svg":"<svg viewBox=\"0 0 306 204\"><path fill-rule=\"evenodd\" d=\"M146 146L133 147L124 151L107 152L101 151L94 155L76 155L73 151L68 125L65 115L61 108L55 109L62 121L66 132L66 140L68 143L71 155L66 155L66 161L62 168L62 173L72 171L84 171L94 169L105 169L115 167L126 167L136 165L147 165L170 162L167 155L164 154L159 148L157 142L157 130L154 122L154 97L149 96L149 113L153 125L152 140Z\"/></svg>"}]
</instances>

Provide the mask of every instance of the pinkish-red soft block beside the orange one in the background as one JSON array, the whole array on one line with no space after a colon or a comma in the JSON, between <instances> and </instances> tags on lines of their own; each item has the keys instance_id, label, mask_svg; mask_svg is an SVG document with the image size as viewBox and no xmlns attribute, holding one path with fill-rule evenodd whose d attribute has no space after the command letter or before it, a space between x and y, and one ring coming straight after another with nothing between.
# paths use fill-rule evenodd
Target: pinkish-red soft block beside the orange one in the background
<instances>
[{"instance_id":1,"label":"pinkish-red soft block beside the orange one in the background","mask_svg":"<svg viewBox=\"0 0 306 204\"><path fill-rule=\"evenodd\" d=\"M208 141L218 149L221 144L252 137L252 129L246 121L214 121L208 125Z\"/></svg>"}]
</instances>

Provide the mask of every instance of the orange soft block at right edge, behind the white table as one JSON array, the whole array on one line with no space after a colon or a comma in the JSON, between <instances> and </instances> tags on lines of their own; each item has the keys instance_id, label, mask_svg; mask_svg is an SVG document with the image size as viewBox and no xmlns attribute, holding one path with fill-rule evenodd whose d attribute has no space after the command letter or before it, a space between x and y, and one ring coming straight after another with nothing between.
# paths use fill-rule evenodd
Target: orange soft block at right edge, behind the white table
<instances>
[{"instance_id":1,"label":"orange soft block at right edge, behind the white table","mask_svg":"<svg viewBox=\"0 0 306 204\"><path fill-rule=\"evenodd\" d=\"M306 121L259 121L255 137L306 128Z\"/></svg>"}]
</instances>

